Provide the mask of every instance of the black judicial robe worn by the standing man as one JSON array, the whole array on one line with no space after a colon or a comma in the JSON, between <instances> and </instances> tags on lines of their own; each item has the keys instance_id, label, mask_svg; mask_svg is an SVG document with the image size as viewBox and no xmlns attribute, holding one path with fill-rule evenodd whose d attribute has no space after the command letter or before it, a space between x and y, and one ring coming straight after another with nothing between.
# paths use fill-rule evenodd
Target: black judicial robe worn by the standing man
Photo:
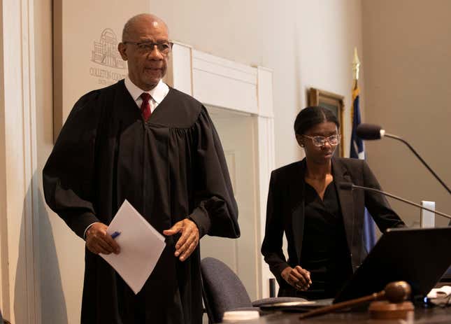
<instances>
[{"instance_id":1,"label":"black judicial robe worn by the standing man","mask_svg":"<svg viewBox=\"0 0 451 324\"><path fill-rule=\"evenodd\" d=\"M170 88L148 122L124 80L73 107L43 169L45 200L79 237L108 225L127 199L159 232L190 217L204 234L236 238L238 209L206 108ZM81 323L201 323L199 246L180 262L167 237L138 295L85 249Z\"/></svg>"}]
</instances>

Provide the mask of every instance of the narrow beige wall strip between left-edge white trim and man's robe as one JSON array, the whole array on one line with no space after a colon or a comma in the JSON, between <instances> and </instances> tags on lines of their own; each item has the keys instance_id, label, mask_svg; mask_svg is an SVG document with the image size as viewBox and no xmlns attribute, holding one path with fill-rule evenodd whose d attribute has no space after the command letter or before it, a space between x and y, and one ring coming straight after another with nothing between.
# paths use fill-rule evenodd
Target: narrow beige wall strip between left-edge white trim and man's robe
<instances>
[{"instance_id":1,"label":"narrow beige wall strip between left-edge white trim and man's robe","mask_svg":"<svg viewBox=\"0 0 451 324\"><path fill-rule=\"evenodd\" d=\"M35 0L36 123L42 323L78 323L83 283L83 241L44 201L42 169L53 148L52 0Z\"/></svg>"}]
</instances>

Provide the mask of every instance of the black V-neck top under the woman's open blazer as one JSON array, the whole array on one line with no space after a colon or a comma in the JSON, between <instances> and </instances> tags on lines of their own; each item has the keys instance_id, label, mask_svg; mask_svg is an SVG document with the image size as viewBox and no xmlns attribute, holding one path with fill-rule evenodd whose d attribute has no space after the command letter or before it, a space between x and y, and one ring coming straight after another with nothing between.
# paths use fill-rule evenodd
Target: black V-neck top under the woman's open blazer
<instances>
[{"instance_id":1,"label":"black V-neck top under the woman's open blazer","mask_svg":"<svg viewBox=\"0 0 451 324\"><path fill-rule=\"evenodd\" d=\"M352 275L335 182L329 183L322 200L306 183L305 199L300 264L310 272L312 286L301 295L308 299L331 298Z\"/></svg>"}]
</instances>

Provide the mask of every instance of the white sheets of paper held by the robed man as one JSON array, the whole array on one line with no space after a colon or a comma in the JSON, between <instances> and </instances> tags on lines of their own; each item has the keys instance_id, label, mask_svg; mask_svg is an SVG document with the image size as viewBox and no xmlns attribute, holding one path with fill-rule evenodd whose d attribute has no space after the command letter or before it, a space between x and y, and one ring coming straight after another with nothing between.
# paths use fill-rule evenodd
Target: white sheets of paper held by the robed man
<instances>
[{"instance_id":1,"label":"white sheets of paper held by the robed man","mask_svg":"<svg viewBox=\"0 0 451 324\"><path fill-rule=\"evenodd\" d=\"M115 238L120 253L99 255L120 274L135 294L139 293L166 246L163 235L127 200L120 206L107 232L110 235L120 232Z\"/></svg>"}]
</instances>

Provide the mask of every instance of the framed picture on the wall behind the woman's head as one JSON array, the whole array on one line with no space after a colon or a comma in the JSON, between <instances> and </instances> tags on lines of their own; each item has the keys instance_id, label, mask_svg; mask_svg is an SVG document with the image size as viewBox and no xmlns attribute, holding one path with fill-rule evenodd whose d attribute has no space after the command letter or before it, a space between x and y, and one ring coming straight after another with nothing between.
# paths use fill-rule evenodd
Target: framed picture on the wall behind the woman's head
<instances>
[{"instance_id":1,"label":"framed picture on the wall behind the woman's head","mask_svg":"<svg viewBox=\"0 0 451 324\"><path fill-rule=\"evenodd\" d=\"M327 92L323 90L315 89L311 87L308 90L308 106L322 106L324 108L328 108L335 113L338 118L338 122L340 122L340 129L338 132L341 134L341 143L338 144L337 149L335 150L334 155L344 157L345 150L343 143L345 142L345 133L343 128L344 123L344 104L345 97L340 94L334 94L332 92Z\"/></svg>"}]
</instances>

